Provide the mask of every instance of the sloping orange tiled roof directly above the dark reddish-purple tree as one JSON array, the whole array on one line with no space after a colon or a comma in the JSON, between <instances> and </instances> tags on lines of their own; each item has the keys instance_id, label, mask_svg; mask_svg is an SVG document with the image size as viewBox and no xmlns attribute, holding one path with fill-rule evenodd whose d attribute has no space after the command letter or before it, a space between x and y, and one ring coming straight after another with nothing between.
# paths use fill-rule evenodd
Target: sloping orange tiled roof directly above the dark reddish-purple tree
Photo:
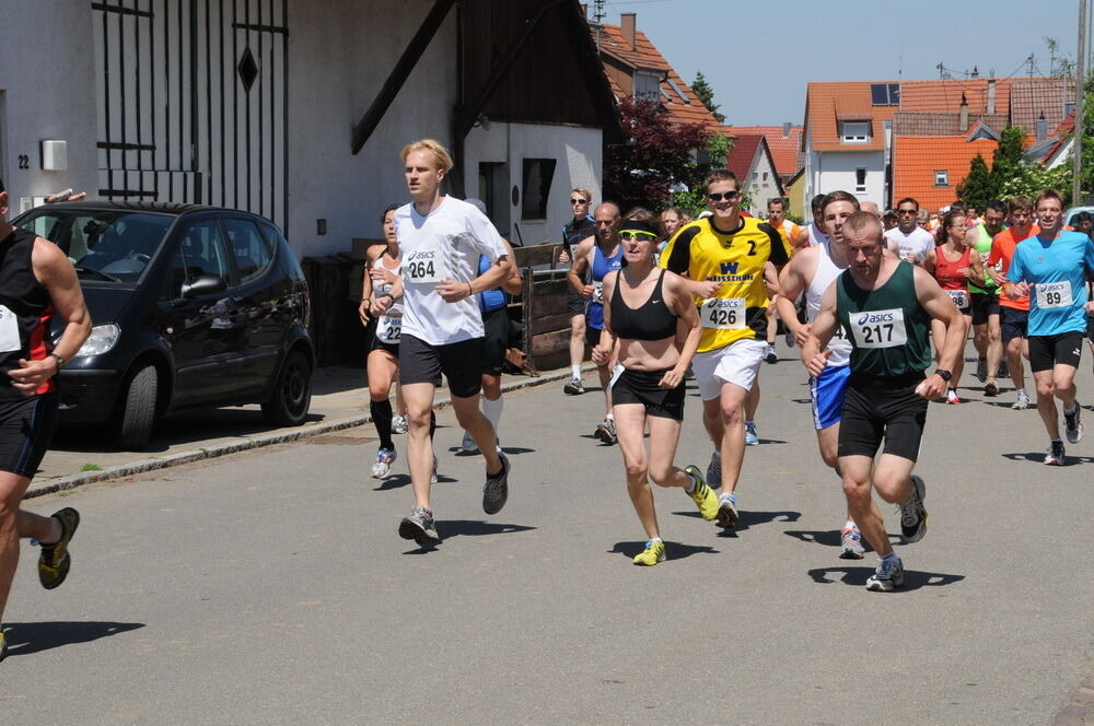
<instances>
[{"instance_id":1,"label":"sloping orange tiled roof directly above the dark reddish-purple tree","mask_svg":"<svg viewBox=\"0 0 1094 726\"><path fill-rule=\"evenodd\" d=\"M617 68L626 68L630 71L648 70L659 71L663 74L661 81L661 105L668 110L670 117L677 124L702 124L709 131L717 131L720 128L718 119L710 113L706 105L695 95L691 86L684 82L675 69L668 65L661 51L650 42L650 38L642 31L635 31L635 47L624 38L622 28L618 25L607 23L590 23L593 39L596 42L604 65L609 63ZM626 95L619 83L608 77L608 83L616 98Z\"/></svg>"}]
</instances>

